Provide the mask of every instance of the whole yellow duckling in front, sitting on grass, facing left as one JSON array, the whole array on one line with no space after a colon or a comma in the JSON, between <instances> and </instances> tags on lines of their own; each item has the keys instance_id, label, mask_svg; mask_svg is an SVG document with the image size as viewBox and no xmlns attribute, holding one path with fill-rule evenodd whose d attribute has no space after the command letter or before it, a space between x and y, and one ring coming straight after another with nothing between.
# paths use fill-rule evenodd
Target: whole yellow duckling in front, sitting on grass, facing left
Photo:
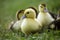
<instances>
[{"instance_id":1,"label":"whole yellow duckling in front, sitting on grass, facing left","mask_svg":"<svg viewBox=\"0 0 60 40\"><path fill-rule=\"evenodd\" d=\"M29 35L31 33L36 33L40 31L41 25L36 19L36 11L32 8L27 8L24 11L24 16L26 17L23 19L21 23L21 31L25 35Z\"/></svg>"}]
</instances>

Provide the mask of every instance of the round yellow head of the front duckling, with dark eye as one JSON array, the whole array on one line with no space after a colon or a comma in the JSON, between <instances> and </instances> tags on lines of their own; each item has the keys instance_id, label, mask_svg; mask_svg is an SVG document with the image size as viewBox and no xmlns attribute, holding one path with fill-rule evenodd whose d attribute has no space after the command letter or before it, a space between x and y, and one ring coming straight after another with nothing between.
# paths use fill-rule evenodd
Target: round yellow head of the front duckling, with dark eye
<instances>
[{"instance_id":1,"label":"round yellow head of the front duckling, with dark eye","mask_svg":"<svg viewBox=\"0 0 60 40\"><path fill-rule=\"evenodd\" d=\"M24 11L24 15L26 18L36 18L36 12L32 8L28 8Z\"/></svg>"}]
</instances>

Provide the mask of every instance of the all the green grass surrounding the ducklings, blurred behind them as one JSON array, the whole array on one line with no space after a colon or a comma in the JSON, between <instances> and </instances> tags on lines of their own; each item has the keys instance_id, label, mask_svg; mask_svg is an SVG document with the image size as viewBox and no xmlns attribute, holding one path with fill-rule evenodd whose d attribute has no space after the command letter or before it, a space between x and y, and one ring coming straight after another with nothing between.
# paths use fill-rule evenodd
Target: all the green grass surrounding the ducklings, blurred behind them
<instances>
[{"instance_id":1,"label":"all the green grass surrounding the ducklings, blurred behind them","mask_svg":"<svg viewBox=\"0 0 60 40\"><path fill-rule=\"evenodd\" d=\"M29 6L37 9L40 3L46 3L48 9L54 13L57 13L60 8L59 0L0 0L0 40L60 40L60 32L53 30L30 35L27 38L21 32L8 30L10 22L16 20L17 10L26 9Z\"/></svg>"}]
</instances>

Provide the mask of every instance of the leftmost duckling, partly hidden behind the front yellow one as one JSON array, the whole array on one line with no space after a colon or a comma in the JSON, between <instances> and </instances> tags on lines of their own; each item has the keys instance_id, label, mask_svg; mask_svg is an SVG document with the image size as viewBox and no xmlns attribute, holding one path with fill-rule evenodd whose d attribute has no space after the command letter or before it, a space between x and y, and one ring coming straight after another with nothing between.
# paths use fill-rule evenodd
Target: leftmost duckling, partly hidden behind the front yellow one
<instances>
[{"instance_id":1,"label":"leftmost duckling, partly hidden behind the front yellow one","mask_svg":"<svg viewBox=\"0 0 60 40\"><path fill-rule=\"evenodd\" d=\"M11 22L11 25L10 25L10 29L11 30L15 30L15 31L20 31L20 25L21 25L21 22L23 20L22 16L24 14L24 10L19 10L17 13L16 13L16 18L18 19L17 21L12 21Z\"/></svg>"}]
</instances>

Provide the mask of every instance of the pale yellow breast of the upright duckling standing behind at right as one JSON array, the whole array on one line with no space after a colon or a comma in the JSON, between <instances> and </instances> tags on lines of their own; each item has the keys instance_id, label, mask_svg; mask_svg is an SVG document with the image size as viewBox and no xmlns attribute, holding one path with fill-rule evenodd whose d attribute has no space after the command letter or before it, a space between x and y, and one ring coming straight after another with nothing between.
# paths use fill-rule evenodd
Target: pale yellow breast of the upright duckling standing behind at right
<instances>
[{"instance_id":1,"label":"pale yellow breast of the upright duckling standing behind at right","mask_svg":"<svg viewBox=\"0 0 60 40\"><path fill-rule=\"evenodd\" d=\"M47 25L54 21L54 19L50 16L49 13L39 13L37 20L42 24L42 25Z\"/></svg>"}]
</instances>

